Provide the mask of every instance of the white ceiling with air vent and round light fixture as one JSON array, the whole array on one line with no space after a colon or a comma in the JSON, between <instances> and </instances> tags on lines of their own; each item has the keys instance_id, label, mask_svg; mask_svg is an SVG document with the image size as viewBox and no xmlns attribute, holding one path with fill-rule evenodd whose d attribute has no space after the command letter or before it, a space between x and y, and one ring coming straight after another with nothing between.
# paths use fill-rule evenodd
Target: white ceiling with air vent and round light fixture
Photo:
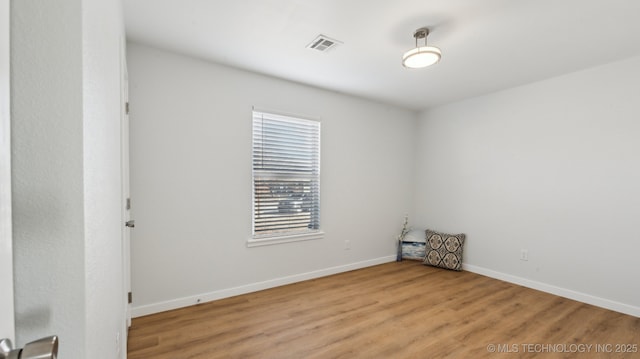
<instances>
[{"instance_id":1,"label":"white ceiling with air vent and round light fixture","mask_svg":"<svg viewBox=\"0 0 640 359\"><path fill-rule=\"evenodd\" d=\"M413 110L640 54L638 0L124 0L130 40ZM443 53L401 65L413 32ZM323 34L344 44L306 49Z\"/></svg>"}]
</instances>

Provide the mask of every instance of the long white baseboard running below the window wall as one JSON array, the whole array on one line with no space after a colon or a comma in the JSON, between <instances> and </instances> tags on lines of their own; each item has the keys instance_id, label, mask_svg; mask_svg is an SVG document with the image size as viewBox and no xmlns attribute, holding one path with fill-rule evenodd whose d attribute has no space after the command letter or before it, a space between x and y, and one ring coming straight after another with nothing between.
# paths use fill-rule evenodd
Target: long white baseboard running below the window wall
<instances>
[{"instance_id":1,"label":"long white baseboard running below the window wall","mask_svg":"<svg viewBox=\"0 0 640 359\"><path fill-rule=\"evenodd\" d=\"M345 264L341 266L320 269L312 272L300 273L300 274L295 274L287 277L271 279L264 282L257 282L257 283L242 285L239 287L221 289L214 292L203 293L200 295L172 299L165 302L147 304L139 307L134 306L131 309L131 316L134 318L142 317L149 314L165 312L167 310L188 307L195 304L206 303L206 302L211 302L218 299L234 297L236 295L257 292L259 290L275 288L282 285L297 283L297 282L301 282L309 279L326 277L332 274L338 274L338 273L348 272L355 269L371 267L378 264L389 263L395 260L396 260L395 255L380 257L380 258L370 259L362 262Z\"/></svg>"}]
</instances>

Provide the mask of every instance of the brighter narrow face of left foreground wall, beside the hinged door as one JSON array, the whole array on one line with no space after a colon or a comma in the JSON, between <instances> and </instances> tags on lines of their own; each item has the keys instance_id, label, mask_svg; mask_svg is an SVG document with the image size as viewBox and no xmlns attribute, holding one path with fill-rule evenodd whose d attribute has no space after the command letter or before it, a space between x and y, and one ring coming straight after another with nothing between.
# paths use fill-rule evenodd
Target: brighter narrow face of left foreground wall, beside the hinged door
<instances>
[{"instance_id":1,"label":"brighter narrow face of left foreground wall, beside the hinged door","mask_svg":"<svg viewBox=\"0 0 640 359\"><path fill-rule=\"evenodd\" d=\"M120 1L83 1L86 358L126 357L120 153L123 21Z\"/></svg>"}]
</instances>

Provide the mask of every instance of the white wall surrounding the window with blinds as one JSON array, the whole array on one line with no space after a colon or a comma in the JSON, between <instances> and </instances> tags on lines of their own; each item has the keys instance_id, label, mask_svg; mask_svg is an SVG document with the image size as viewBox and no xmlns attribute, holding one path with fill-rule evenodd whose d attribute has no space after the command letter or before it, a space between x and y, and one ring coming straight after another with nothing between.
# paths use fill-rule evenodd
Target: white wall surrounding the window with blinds
<instances>
[{"instance_id":1,"label":"white wall surrounding the window with blinds","mask_svg":"<svg viewBox=\"0 0 640 359\"><path fill-rule=\"evenodd\" d=\"M394 260L412 207L414 113L135 43L127 51L134 315ZM254 105L321 118L324 239L246 247Z\"/></svg>"}]
</instances>

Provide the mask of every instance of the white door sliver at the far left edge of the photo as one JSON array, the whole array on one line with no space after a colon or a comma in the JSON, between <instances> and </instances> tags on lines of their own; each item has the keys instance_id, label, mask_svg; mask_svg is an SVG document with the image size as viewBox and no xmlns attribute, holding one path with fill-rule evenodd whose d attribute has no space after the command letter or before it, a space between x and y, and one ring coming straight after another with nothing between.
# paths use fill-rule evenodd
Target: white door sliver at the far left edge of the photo
<instances>
[{"instance_id":1,"label":"white door sliver at the far left edge of the photo","mask_svg":"<svg viewBox=\"0 0 640 359\"><path fill-rule=\"evenodd\" d=\"M0 339L14 341L9 93L9 0L0 0Z\"/></svg>"}]
</instances>

